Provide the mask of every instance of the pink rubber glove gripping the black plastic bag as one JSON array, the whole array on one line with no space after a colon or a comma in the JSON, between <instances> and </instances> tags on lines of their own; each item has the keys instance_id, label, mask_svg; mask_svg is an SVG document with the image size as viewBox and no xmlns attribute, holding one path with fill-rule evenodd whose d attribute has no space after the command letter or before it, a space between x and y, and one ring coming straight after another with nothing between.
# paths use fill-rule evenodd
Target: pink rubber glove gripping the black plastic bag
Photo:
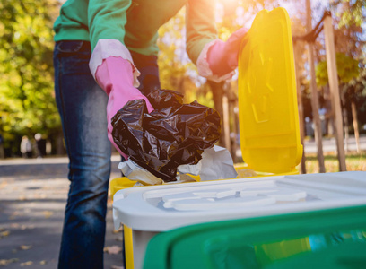
<instances>
[{"instance_id":1,"label":"pink rubber glove gripping the black plastic bag","mask_svg":"<svg viewBox=\"0 0 366 269\"><path fill-rule=\"evenodd\" d=\"M100 87L109 95L107 104L108 138L118 152L128 159L126 154L121 152L113 141L111 119L120 108L123 108L129 100L144 99L147 109L153 111L149 100L134 87L133 65L122 57L109 56L98 66L95 79Z\"/></svg>"}]
</instances>

